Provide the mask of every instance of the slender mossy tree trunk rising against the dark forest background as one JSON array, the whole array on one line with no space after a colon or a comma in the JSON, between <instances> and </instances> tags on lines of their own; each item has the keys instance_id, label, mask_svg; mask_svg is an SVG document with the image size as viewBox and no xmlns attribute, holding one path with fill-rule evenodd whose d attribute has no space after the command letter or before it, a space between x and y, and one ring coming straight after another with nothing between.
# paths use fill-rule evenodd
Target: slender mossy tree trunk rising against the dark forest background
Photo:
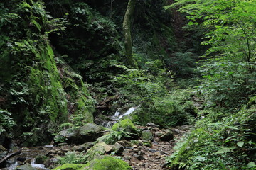
<instances>
[{"instance_id":1,"label":"slender mossy tree trunk rising against the dark forest background","mask_svg":"<svg viewBox=\"0 0 256 170\"><path fill-rule=\"evenodd\" d=\"M131 36L132 15L134 13L136 1L137 0L129 0L123 22L125 57L127 58L127 64L129 64L133 68L138 67L137 62L134 60L134 56L132 55Z\"/></svg>"}]
</instances>

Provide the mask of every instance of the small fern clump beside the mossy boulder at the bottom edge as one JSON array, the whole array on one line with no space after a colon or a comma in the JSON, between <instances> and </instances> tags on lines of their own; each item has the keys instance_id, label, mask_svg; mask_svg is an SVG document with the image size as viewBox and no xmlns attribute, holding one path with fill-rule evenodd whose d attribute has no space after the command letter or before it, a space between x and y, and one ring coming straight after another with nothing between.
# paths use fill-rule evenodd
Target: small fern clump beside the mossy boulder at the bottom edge
<instances>
[{"instance_id":1,"label":"small fern clump beside the mossy boulder at the bottom edge","mask_svg":"<svg viewBox=\"0 0 256 170\"><path fill-rule=\"evenodd\" d=\"M77 154L76 152L67 152L65 156L58 157L59 164L86 164L87 163L87 155L81 152Z\"/></svg>"}]
</instances>

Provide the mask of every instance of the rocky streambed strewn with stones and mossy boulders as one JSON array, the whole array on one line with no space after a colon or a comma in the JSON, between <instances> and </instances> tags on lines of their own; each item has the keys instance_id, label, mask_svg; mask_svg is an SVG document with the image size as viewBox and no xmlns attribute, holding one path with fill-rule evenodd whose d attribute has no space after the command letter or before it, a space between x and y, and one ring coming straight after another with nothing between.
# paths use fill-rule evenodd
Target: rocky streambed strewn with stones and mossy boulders
<instances>
[{"instance_id":1,"label":"rocky streambed strewn with stones and mossy boulders","mask_svg":"<svg viewBox=\"0 0 256 170\"><path fill-rule=\"evenodd\" d=\"M61 131L55 137L54 145L21 148L20 154L6 161L8 167L5 169L54 169L60 166L60 157L65 157L66 163L74 163L68 154L84 155L86 162L110 155L114 159L124 160L135 170L167 169L165 157L172 154L176 140L188 132L189 128L184 125L159 129L154 123L135 126L129 119L116 123L112 129L87 123L80 128Z\"/></svg>"}]
</instances>

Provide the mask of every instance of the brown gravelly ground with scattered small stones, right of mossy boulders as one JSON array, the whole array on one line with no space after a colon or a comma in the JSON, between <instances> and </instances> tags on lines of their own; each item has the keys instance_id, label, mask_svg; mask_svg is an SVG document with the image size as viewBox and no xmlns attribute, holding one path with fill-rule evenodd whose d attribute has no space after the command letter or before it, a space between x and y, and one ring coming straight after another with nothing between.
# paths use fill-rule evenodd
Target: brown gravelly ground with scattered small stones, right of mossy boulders
<instances>
[{"instance_id":1,"label":"brown gravelly ground with scattered small stones, right of mossy boulders","mask_svg":"<svg viewBox=\"0 0 256 170\"><path fill-rule=\"evenodd\" d=\"M139 127L141 129L146 129L148 127ZM161 141L157 137L156 133L161 133L166 130L154 129L154 142L151 146L137 146L127 147L124 149L122 154L123 159L132 166L134 170L159 170L168 169L166 167L166 157L173 154L173 147L176 145L178 140L181 140L183 135L190 132L191 126L183 125L181 127L173 128L174 140L171 141Z\"/></svg>"}]
</instances>

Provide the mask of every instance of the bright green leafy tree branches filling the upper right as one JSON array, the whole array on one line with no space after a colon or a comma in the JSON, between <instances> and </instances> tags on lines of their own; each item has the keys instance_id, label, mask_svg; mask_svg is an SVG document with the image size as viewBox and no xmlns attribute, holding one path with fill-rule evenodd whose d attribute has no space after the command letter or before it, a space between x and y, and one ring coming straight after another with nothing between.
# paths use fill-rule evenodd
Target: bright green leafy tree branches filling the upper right
<instances>
[{"instance_id":1,"label":"bright green leafy tree branches filling the upper right","mask_svg":"<svg viewBox=\"0 0 256 170\"><path fill-rule=\"evenodd\" d=\"M176 1L188 26L205 28L201 67L208 106L235 108L255 94L255 1Z\"/></svg>"}]
</instances>

